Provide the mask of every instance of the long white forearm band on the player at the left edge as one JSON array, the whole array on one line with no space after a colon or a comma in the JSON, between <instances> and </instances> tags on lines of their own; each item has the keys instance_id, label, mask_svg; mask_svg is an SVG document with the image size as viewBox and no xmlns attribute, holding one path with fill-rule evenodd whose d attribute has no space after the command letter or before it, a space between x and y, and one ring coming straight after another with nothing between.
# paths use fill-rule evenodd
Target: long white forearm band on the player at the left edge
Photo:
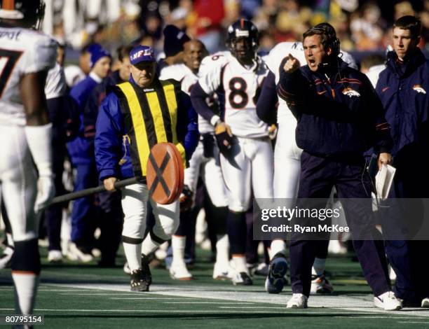
<instances>
[{"instance_id":1,"label":"long white forearm band on the player at the left edge","mask_svg":"<svg viewBox=\"0 0 429 329\"><path fill-rule=\"evenodd\" d=\"M52 123L43 126L25 126L25 136L39 176L53 176L52 172Z\"/></svg>"}]
</instances>

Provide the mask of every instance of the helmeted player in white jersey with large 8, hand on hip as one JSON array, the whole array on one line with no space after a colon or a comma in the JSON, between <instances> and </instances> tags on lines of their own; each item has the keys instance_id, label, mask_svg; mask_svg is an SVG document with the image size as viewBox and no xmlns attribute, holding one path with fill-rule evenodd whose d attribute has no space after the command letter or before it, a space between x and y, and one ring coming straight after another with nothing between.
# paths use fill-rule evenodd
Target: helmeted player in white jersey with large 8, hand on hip
<instances>
[{"instance_id":1,"label":"helmeted player in white jersey with large 8, hand on hip","mask_svg":"<svg viewBox=\"0 0 429 329\"><path fill-rule=\"evenodd\" d=\"M256 96L268 69L257 56L257 27L240 19L228 28L227 46L231 55L219 57L191 90L196 111L214 127L221 152L222 175L228 189L227 232L236 275L234 284L250 285L246 267L245 212L254 197L273 197L273 150L268 125L256 113ZM224 92L224 116L210 110L205 99Z\"/></svg>"}]
</instances>

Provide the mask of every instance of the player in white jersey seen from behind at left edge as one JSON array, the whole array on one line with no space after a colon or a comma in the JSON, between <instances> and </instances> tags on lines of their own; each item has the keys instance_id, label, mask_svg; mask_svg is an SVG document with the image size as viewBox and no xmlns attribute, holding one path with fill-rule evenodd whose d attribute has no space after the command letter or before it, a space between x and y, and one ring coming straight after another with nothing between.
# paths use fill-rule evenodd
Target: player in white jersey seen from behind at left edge
<instances>
[{"instance_id":1,"label":"player in white jersey seen from behind at left edge","mask_svg":"<svg viewBox=\"0 0 429 329\"><path fill-rule=\"evenodd\" d=\"M40 273L39 214L54 194L44 86L57 45L31 28L43 18L40 0L0 4L1 202L11 223L15 253L15 313L32 314ZM35 165L35 166L34 166ZM39 187L39 188L38 188Z\"/></svg>"}]
</instances>

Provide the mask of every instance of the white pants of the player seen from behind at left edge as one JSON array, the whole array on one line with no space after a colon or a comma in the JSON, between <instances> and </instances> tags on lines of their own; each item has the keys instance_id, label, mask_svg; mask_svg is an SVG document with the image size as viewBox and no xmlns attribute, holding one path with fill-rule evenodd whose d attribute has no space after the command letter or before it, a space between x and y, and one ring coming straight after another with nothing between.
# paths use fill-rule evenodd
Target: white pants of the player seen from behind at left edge
<instances>
[{"instance_id":1,"label":"white pants of the player seen from behind at left edge","mask_svg":"<svg viewBox=\"0 0 429 329\"><path fill-rule=\"evenodd\" d=\"M1 202L11 223L13 241L36 239L39 216L34 213L37 175L24 127L0 125Z\"/></svg>"}]
</instances>

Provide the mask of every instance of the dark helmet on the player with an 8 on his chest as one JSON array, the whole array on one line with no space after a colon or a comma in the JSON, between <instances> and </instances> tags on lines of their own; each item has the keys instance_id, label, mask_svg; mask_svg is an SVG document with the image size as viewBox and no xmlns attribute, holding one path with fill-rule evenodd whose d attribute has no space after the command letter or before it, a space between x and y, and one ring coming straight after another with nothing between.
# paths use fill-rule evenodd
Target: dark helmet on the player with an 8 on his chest
<instances>
[{"instance_id":1,"label":"dark helmet on the player with an 8 on his chest","mask_svg":"<svg viewBox=\"0 0 429 329\"><path fill-rule=\"evenodd\" d=\"M247 49L238 47L238 41L240 39L245 39ZM228 47L231 53L239 60L240 57L243 57L240 55L240 52L244 52L244 50L246 50L246 54L243 55L254 58L259 47L259 31L257 27L250 22L250 20L244 20L243 18L233 22L233 24L228 27L226 47Z\"/></svg>"}]
</instances>

